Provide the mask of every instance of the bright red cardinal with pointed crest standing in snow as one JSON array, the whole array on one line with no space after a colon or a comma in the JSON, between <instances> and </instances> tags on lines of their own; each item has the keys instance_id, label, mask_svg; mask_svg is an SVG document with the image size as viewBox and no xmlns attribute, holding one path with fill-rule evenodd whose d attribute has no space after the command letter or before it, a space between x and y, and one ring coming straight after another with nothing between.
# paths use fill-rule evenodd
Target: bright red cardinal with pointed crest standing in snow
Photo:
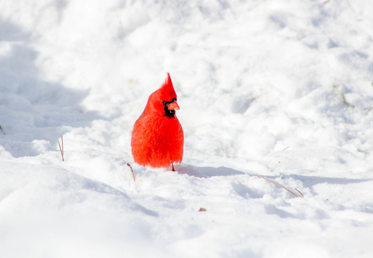
<instances>
[{"instance_id":1,"label":"bright red cardinal with pointed crest standing in snow","mask_svg":"<svg viewBox=\"0 0 373 258\"><path fill-rule=\"evenodd\" d=\"M183 159L184 132L175 116L177 96L170 74L150 94L148 103L132 130L131 148L136 163L153 168L169 167Z\"/></svg>"}]
</instances>

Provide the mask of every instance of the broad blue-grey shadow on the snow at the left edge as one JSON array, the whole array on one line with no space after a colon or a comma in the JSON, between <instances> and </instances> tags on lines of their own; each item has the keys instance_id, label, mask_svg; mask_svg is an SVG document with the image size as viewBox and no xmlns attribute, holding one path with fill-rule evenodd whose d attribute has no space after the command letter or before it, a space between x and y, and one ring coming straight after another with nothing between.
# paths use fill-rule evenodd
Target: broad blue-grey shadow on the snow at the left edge
<instances>
[{"instance_id":1,"label":"broad blue-grey shadow on the snow at the left edge","mask_svg":"<svg viewBox=\"0 0 373 258\"><path fill-rule=\"evenodd\" d=\"M13 157L38 155L30 142L46 140L54 146L68 126L104 119L80 106L88 91L40 79L29 33L1 18L0 28L0 145L6 151Z\"/></svg>"}]
</instances>

